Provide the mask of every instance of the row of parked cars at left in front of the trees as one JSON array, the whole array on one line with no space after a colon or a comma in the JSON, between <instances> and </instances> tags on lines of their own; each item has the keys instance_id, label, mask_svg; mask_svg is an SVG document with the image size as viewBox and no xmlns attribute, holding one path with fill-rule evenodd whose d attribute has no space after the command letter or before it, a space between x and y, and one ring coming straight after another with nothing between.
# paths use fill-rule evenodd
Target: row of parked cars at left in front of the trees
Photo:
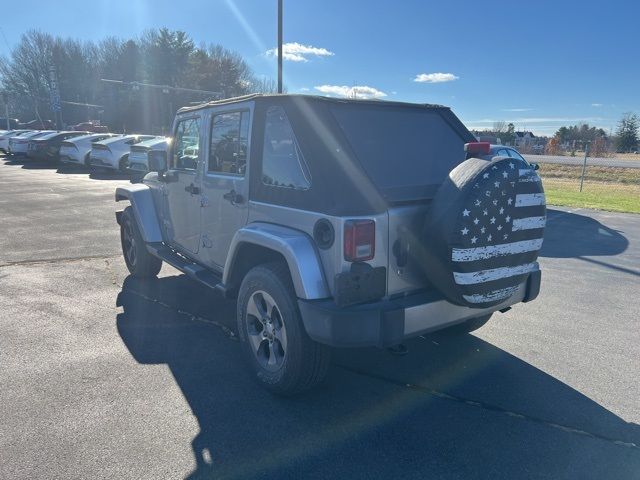
<instances>
[{"instance_id":1,"label":"row of parked cars at left in front of the trees","mask_svg":"<svg viewBox=\"0 0 640 480\"><path fill-rule=\"evenodd\" d=\"M166 151L169 141L154 135L0 130L0 151L7 155L136 175L149 171L149 153Z\"/></svg>"}]
</instances>

